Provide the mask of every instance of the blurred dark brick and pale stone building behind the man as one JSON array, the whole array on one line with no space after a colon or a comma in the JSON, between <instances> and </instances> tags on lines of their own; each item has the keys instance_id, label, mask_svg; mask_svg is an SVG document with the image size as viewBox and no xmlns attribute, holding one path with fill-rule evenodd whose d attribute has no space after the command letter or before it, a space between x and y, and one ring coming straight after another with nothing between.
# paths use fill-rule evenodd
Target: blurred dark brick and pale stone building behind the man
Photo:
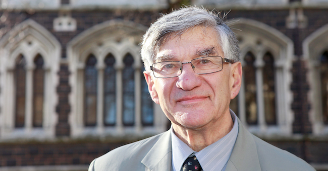
<instances>
[{"instance_id":1,"label":"blurred dark brick and pale stone building behind the man","mask_svg":"<svg viewBox=\"0 0 328 171\"><path fill-rule=\"evenodd\" d=\"M328 1L0 1L0 170L86 170L169 128L142 75L142 35L183 4L240 42L231 102L249 131L328 170ZM226 15L228 14L228 15Z\"/></svg>"}]
</instances>

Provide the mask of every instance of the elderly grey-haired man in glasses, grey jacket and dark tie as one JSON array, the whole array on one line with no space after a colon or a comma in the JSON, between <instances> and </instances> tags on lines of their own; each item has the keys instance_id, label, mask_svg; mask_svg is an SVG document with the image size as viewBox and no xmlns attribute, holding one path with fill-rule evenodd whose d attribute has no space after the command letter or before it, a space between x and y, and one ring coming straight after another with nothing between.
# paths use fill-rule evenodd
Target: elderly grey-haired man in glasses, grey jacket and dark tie
<instances>
[{"instance_id":1,"label":"elderly grey-haired man in glasses, grey jacket and dark tie","mask_svg":"<svg viewBox=\"0 0 328 171\"><path fill-rule=\"evenodd\" d=\"M91 170L314 170L249 133L229 109L241 87L234 33L216 14L185 7L144 35L144 76L169 131L94 159Z\"/></svg>"}]
</instances>

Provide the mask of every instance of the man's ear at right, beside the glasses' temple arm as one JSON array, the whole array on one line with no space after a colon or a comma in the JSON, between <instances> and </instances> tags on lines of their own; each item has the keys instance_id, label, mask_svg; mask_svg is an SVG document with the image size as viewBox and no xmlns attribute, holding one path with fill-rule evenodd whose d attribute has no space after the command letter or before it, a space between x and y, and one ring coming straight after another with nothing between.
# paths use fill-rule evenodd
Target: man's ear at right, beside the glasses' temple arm
<instances>
[{"instance_id":1,"label":"man's ear at right, beside the glasses' temple arm","mask_svg":"<svg viewBox=\"0 0 328 171\"><path fill-rule=\"evenodd\" d=\"M231 94L230 98L234 99L240 90L241 87L241 79L243 75L243 68L241 66L241 62L235 62L231 66L231 79L230 79L230 88L231 88Z\"/></svg>"}]
</instances>

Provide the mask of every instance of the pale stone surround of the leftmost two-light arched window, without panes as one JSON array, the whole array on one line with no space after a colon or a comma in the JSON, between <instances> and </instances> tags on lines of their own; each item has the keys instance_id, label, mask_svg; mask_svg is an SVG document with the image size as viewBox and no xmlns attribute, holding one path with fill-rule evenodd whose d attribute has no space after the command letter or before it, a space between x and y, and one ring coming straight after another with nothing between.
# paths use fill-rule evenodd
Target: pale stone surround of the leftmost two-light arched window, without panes
<instances>
[{"instance_id":1,"label":"pale stone surround of the leftmost two-light arched window, without panes","mask_svg":"<svg viewBox=\"0 0 328 171\"><path fill-rule=\"evenodd\" d=\"M0 119L3 129L1 130L1 137L6 138L12 136L14 128L14 82L13 69L15 67L15 59L19 54L24 55L27 62L27 72L31 72L34 67L34 57L40 54L44 60L44 68L46 69L46 82L44 94L44 120L43 131L38 134L38 137L33 133L35 131L31 125L31 107L26 110L28 119L22 134L15 134L24 138L53 138L54 127L57 121L56 104L58 95L56 93L56 86L58 85L58 75L60 58L61 58L61 44L60 42L43 26L35 21L28 19L16 25L0 40L0 87L3 94L0 95L0 106L2 107L2 117ZM32 75L32 73L30 73ZM32 76L27 77L26 89L32 92ZM29 92L27 91L27 92ZM27 93L27 100L31 101L32 94ZM31 106L27 102L27 106Z\"/></svg>"}]
</instances>

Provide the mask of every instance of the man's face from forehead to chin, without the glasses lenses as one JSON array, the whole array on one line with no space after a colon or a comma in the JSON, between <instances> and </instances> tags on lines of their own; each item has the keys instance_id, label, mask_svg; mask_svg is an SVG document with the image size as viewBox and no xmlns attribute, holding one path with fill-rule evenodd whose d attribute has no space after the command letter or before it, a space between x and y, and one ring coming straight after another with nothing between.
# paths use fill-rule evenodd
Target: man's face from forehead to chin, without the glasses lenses
<instances>
[{"instance_id":1,"label":"man's face from forehead to chin, without the glasses lenses","mask_svg":"<svg viewBox=\"0 0 328 171\"><path fill-rule=\"evenodd\" d=\"M224 58L214 30L197 26L163 44L156 62L189 62L203 56ZM230 115L231 72L231 64L223 63L222 71L196 74L187 63L178 77L155 78L145 71L145 78L153 101L173 124L199 129L224 122L224 115Z\"/></svg>"}]
</instances>

